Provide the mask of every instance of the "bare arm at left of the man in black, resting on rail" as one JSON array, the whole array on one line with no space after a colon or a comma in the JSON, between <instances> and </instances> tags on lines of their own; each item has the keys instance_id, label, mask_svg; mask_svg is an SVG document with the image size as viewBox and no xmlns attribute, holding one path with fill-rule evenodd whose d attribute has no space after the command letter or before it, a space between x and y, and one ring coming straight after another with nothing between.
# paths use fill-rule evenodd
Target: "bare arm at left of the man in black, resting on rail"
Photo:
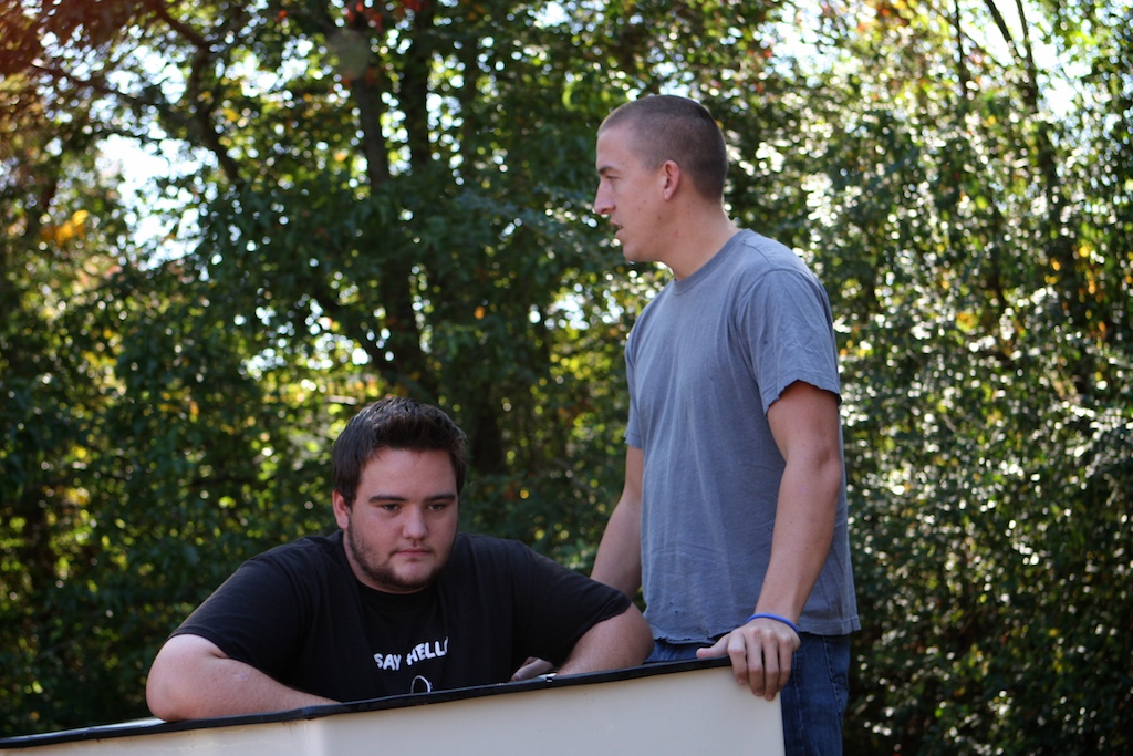
<instances>
[{"instance_id":1,"label":"bare arm at left of the man in black, resting on rail","mask_svg":"<svg viewBox=\"0 0 1133 756\"><path fill-rule=\"evenodd\" d=\"M167 722L335 703L276 682L196 635L165 642L150 668L145 695L153 715Z\"/></svg>"}]
</instances>

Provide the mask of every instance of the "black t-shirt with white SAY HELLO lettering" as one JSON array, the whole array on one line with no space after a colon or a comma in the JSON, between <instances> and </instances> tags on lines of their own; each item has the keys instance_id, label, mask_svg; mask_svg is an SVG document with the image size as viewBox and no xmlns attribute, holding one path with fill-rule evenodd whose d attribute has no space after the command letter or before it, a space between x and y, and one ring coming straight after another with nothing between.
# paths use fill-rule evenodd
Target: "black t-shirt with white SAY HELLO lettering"
<instances>
[{"instance_id":1,"label":"black t-shirt with white SAY HELLO lettering","mask_svg":"<svg viewBox=\"0 0 1133 756\"><path fill-rule=\"evenodd\" d=\"M353 576L342 532L245 562L173 635L197 635L280 682L363 700L505 682L528 656L561 664L621 592L516 541L458 534L436 581L414 594Z\"/></svg>"}]
</instances>

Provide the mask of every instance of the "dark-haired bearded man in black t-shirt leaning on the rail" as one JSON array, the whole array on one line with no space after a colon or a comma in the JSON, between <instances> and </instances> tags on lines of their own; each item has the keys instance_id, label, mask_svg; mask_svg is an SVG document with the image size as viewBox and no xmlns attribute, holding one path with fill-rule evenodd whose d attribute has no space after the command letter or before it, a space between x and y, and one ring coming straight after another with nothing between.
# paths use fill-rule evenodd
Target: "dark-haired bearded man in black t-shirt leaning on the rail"
<instances>
[{"instance_id":1,"label":"dark-haired bearded man in black t-shirt leaning on the rail","mask_svg":"<svg viewBox=\"0 0 1133 756\"><path fill-rule=\"evenodd\" d=\"M390 398L334 443L339 530L242 564L154 660L163 720L299 708L640 664L649 627L619 591L514 541L458 533L465 434Z\"/></svg>"}]
</instances>

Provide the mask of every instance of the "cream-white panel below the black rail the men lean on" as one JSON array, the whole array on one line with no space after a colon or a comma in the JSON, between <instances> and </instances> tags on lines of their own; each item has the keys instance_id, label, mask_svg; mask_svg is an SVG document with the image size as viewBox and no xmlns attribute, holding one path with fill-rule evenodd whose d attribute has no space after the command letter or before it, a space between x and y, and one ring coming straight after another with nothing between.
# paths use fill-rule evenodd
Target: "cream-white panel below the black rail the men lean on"
<instances>
[{"instance_id":1,"label":"cream-white panel below the black rail the men lean on","mask_svg":"<svg viewBox=\"0 0 1133 756\"><path fill-rule=\"evenodd\" d=\"M727 666L619 677L574 683L568 678L545 687L469 689L451 700L424 700L368 711L313 707L295 719L210 727L173 732L162 724L92 728L80 739L0 741L2 754L102 756L153 754L228 756L342 756L349 754L453 754L497 756L700 756L783 754L780 702L756 698L738 686ZM434 695L434 698L437 696ZM361 707L365 708L365 704ZM320 715L320 708L335 713ZM355 706L357 708L357 706ZM221 727L212 727L221 724ZM157 728L159 731L153 731ZM79 731L76 731L79 732ZM11 747L18 744L20 747ZM3 748L3 746L9 746Z\"/></svg>"}]
</instances>

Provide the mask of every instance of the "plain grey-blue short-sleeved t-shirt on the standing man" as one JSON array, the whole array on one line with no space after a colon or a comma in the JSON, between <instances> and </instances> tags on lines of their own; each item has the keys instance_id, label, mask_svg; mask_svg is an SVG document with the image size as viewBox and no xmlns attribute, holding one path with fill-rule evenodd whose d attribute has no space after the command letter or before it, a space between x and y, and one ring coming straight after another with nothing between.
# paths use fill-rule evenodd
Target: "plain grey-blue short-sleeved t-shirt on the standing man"
<instances>
[{"instance_id":1,"label":"plain grey-blue short-sleeved t-shirt on the standing man","mask_svg":"<svg viewBox=\"0 0 1133 756\"><path fill-rule=\"evenodd\" d=\"M715 638L751 613L770 558L784 461L768 407L795 381L840 394L829 300L791 249L741 231L649 303L625 364L625 440L645 455L646 618L657 638ZM834 542L799 626L860 628L844 478Z\"/></svg>"}]
</instances>

